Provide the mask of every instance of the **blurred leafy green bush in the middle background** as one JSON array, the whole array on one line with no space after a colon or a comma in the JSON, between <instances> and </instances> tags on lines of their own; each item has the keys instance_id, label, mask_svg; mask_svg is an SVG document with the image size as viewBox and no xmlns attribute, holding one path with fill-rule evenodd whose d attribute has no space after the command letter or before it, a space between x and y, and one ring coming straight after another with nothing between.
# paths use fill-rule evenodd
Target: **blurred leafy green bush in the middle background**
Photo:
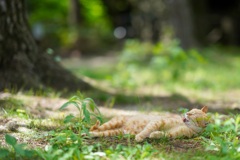
<instances>
[{"instance_id":1,"label":"blurred leafy green bush in the middle background","mask_svg":"<svg viewBox=\"0 0 240 160\"><path fill-rule=\"evenodd\" d=\"M203 64L206 60L195 49L183 50L177 40L162 41L156 44L129 40L117 66L117 77L129 76L142 83L161 83L169 80L179 80L185 76L186 71L197 69L196 64ZM127 67L127 70L125 69ZM134 74L146 73L141 78ZM152 72L152 74L149 74ZM154 77L156 78L154 78ZM120 80L119 78L116 78ZM134 83L135 81L134 81Z\"/></svg>"}]
</instances>

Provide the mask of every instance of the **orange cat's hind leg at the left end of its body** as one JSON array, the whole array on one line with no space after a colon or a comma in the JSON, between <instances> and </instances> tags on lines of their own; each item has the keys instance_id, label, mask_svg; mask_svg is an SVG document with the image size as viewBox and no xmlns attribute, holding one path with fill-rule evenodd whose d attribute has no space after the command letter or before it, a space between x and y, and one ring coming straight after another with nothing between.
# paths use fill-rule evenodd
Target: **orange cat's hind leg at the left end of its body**
<instances>
[{"instance_id":1,"label":"orange cat's hind leg at the left end of its body","mask_svg":"<svg viewBox=\"0 0 240 160\"><path fill-rule=\"evenodd\" d=\"M106 131L111 129L116 129L122 127L126 117L115 117L111 119L110 121L102 124L100 126L100 122L97 121L97 123L91 127L90 131Z\"/></svg>"}]
</instances>

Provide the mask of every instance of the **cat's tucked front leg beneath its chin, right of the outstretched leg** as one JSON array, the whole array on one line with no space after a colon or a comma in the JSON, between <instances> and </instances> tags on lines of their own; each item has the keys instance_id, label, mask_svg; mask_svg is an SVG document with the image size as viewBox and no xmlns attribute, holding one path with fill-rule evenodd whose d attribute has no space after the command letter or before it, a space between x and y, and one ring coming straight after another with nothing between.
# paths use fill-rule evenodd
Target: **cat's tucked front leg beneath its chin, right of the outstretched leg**
<instances>
[{"instance_id":1,"label":"cat's tucked front leg beneath its chin, right of the outstretched leg","mask_svg":"<svg viewBox=\"0 0 240 160\"><path fill-rule=\"evenodd\" d=\"M180 137L192 137L195 134L193 130L188 128L187 126L178 126L170 129L166 132L166 136L169 138L180 138Z\"/></svg>"}]
</instances>

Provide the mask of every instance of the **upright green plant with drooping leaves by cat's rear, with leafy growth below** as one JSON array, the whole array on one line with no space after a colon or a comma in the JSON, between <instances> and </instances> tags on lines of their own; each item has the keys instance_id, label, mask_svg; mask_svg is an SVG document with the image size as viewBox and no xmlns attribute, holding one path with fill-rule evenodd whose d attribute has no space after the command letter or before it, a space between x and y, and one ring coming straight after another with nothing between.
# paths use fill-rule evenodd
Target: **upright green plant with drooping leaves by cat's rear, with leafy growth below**
<instances>
[{"instance_id":1,"label":"upright green plant with drooping leaves by cat's rear, with leafy growth below","mask_svg":"<svg viewBox=\"0 0 240 160\"><path fill-rule=\"evenodd\" d=\"M85 144L83 133L88 134L89 125L92 118L102 122L102 116L95 102L91 98L83 96L73 96L64 103L60 110L75 106L79 111L79 116L67 115L64 119L66 128L58 132L52 131L49 135L50 145L45 147L45 151L38 150L38 154L46 160L57 159L84 159L95 148ZM76 133L77 132L77 133ZM94 151L94 150L93 150Z\"/></svg>"}]
</instances>

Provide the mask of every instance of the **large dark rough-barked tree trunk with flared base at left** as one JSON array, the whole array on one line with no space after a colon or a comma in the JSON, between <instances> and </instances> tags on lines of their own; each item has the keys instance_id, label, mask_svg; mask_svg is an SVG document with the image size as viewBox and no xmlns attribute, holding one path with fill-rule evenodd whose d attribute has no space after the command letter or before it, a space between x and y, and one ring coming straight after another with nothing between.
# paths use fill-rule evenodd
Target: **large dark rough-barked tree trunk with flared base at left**
<instances>
[{"instance_id":1,"label":"large dark rough-barked tree trunk with flared base at left","mask_svg":"<svg viewBox=\"0 0 240 160\"><path fill-rule=\"evenodd\" d=\"M85 90L91 86L40 54L30 33L24 0L0 0L0 91L10 89Z\"/></svg>"}]
</instances>

